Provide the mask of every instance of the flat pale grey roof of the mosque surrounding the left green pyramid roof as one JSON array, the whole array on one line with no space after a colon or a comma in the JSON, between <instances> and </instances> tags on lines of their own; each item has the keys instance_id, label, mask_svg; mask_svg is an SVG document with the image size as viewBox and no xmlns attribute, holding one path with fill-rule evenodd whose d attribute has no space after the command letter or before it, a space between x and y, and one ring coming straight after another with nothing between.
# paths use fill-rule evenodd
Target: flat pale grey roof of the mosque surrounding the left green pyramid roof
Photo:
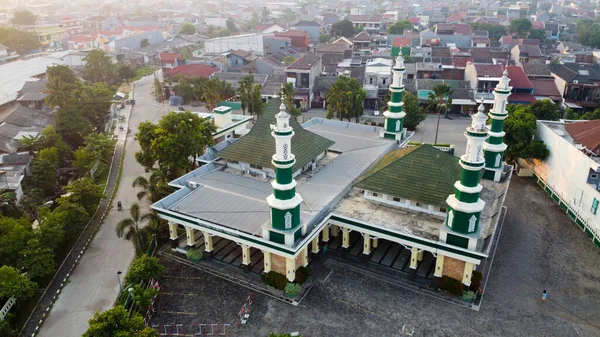
<instances>
[{"instance_id":1,"label":"flat pale grey roof of the mosque surrounding the left green pyramid roof","mask_svg":"<svg viewBox=\"0 0 600 337\"><path fill-rule=\"evenodd\" d=\"M302 129L297 122L292 127L295 132ZM393 141L379 138L380 128L372 126L315 118L303 127L335 143L332 146L335 152L321 159L316 169L296 177L297 191L304 199L300 205L301 222L312 226L343 198L356 178L396 145ZM269 130L263 131L272 138ZM223 151L246 137L228 145ZM275 151L272 145L271 155ZM292 149L301 148L296 145ZM198 187L191 187L189 182L198 184ZM258 237L262 235L262 226L269 223L266 198L272 193L272 187L266 179L250 177L213 162L173 181L171 185L180 189L153 204L152 208L201 219L228 232ZM232 205L235 206L232 208Z\"/></svg>"}]
</instances>

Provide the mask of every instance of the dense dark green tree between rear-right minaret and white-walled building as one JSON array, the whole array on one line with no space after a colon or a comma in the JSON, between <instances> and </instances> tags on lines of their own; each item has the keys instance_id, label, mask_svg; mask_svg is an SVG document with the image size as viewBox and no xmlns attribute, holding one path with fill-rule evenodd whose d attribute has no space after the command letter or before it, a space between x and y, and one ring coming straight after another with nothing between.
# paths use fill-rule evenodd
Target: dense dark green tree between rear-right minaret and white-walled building
<instances>
[{"instance_id":1,"label":"dense dark green tree between rear-right minaret and white-walled building","mask_svg":"<svg viewBox=\"0 0 600 337\"><path fill-rule=\"evenodd\" d=\"M504 121L504 142L508 145L506 157L545 159L549 151L543 143L533 140L535 129L535 115L527 107L519 106L509 113Z\"/></svg>"}]
</instances>

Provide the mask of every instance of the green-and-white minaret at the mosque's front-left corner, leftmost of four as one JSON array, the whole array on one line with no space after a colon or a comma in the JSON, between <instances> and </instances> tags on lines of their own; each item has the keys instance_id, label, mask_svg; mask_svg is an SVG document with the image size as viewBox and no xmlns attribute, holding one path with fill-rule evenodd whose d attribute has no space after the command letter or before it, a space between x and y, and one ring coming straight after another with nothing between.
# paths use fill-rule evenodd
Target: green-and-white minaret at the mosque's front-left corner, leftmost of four
<instances>
[{"instance_id":1,"label":"green-and-white minaret at the mosque's front-left corner, leftmost of four","mask_svg":"<svg viewBox=\"0 0 600 337\"><path fill-rule=\"evenodd\" d=\"M275 154L271 163L275 166L275 180L271 182L273 194L267 197L271 208L271 225L263 228L263 237L270 241L293 246L301 236L300 203L302 197L296 193L296 181L292 178L292 167L296 159L292 154L294 130L290 127L290 115L281 103L275 115L276 125L271 125L275 138Z\"/></svg>"}]
</instances>

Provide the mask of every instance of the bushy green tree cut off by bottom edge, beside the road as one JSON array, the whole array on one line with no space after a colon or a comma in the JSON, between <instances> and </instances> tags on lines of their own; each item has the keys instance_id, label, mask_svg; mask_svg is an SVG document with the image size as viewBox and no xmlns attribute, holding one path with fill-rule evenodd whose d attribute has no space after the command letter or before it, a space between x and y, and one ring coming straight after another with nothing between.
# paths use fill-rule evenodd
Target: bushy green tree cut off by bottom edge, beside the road
<instances>
[{"instance_id":1,"label":"bushy green tree cut off by bottom edge, beside the road","mask_svg":"<svg viewBox=\"0 0 600 337\"><path fill-rule=\"evenodd\" d=\"M158 333L144 324L142 315L134 312L131 317L122 305L95 313L90 326L82 337L158 337Z\"/></svg>"}]
</instances>

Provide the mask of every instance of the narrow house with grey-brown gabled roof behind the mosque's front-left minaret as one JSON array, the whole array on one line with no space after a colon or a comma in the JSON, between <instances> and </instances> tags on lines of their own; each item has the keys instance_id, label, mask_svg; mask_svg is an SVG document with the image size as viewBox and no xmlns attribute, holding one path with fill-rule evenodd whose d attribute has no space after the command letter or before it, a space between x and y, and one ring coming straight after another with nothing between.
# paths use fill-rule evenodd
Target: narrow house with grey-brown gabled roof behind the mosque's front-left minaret
<instances>
[{"instance_id":1,"label":"narrow house with grey-brown gabled roof behind the mosque's front-left minaret","mask_svg":"<svg viewBox=\"0 0 600 337\"><path fill-rule=\"evenodd\" d=\"M296 104L301 100L312 102L315 77L321 71L321 59L313 53L305 53L285 69L286 82L292 83L296 89Z\"/></svg>"}]
</instances>

